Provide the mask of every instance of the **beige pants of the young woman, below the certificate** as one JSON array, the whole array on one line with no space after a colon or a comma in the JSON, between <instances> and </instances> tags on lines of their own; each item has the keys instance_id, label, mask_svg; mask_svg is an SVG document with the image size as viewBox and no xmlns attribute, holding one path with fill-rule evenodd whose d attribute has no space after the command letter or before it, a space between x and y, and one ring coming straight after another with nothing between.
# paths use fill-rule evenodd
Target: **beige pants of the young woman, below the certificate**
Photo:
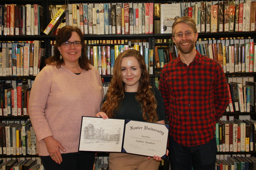
<instances>
[{"instance_id":1,"label":"beige pants of the young woman, below the certificate","mask_svg":"<svg viewBox=\"0 0 256 170\"><path fill-rule=\"evenodd\" d=\"M148 160L147 156L139 156L126 153L110 153L110 170L158 170L160 162L153 158Z\"/></svg>"}]
</instances>

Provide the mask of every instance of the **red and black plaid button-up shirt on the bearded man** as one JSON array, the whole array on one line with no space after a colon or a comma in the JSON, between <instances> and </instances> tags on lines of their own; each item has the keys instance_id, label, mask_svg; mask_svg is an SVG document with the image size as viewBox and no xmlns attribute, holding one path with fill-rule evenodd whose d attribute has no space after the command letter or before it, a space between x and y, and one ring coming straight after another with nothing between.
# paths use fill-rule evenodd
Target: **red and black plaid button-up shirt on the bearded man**
<instances>
[{"instance_id":1,"label":"red and black plaid button-up shirt on the bearded man","mask_svg":"<svg viewBox=\"0 0 256 170\"><path fill-rule=\"evenodd\" d=\"M189 66L176 58L164 65L159 90L164 97L170 135L183 146L208 143L228 106L221 65L197 51Z\"/></svg>"}]
</instances>

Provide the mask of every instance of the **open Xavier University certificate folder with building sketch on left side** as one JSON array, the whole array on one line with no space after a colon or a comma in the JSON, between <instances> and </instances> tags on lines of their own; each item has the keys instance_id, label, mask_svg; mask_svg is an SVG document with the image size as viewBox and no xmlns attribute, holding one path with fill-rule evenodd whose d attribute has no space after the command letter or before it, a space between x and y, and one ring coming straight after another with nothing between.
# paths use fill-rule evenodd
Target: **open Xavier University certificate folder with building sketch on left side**
<instances>
[{"instance_id":1,"label":"open Xavier University certificate folder with building sketch on left side","mask_svg":"<svg viewBox=\"0 0 256 170\"><path fill-rule=\"evenodd\" d=\"M79 151L166 157L169 125L82 116Z\"/></svg>"}]
</instances>

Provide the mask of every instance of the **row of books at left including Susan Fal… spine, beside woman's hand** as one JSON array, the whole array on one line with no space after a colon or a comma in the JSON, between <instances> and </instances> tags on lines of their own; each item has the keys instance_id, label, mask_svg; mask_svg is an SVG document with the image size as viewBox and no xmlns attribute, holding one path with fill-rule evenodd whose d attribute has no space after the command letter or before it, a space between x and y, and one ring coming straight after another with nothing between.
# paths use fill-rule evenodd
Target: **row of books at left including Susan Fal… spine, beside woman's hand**
<instances>
[{"instance_id":1,"label":"row of books at left including Susan Fal\u2026 spine, beside woman's hand","mask_svg":"<svg viewBox=\"0 0 256 170\"><path fill-rule=\"evenodd\" d=\"M36 135L31 121L0 123L0 155L36 155Z\"/></svg>"}]
</instances>

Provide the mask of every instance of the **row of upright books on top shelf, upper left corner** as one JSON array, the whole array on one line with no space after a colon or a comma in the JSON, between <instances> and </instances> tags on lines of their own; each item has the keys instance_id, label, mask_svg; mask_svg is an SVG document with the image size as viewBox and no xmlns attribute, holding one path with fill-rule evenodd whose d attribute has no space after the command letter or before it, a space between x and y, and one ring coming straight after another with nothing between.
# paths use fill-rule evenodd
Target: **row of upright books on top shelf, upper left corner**
<instances>
[{"instance_id":1,"label":"row of upright books on top shelf, upper left corner","mask_svg":"<svg viewBox=\"0 0 256 170\"><path fill-rule=\"evenodd\" d=\"M41 5L0 5L0 35L41 35L44 29Z\"/></svg>"}]
</instances>

